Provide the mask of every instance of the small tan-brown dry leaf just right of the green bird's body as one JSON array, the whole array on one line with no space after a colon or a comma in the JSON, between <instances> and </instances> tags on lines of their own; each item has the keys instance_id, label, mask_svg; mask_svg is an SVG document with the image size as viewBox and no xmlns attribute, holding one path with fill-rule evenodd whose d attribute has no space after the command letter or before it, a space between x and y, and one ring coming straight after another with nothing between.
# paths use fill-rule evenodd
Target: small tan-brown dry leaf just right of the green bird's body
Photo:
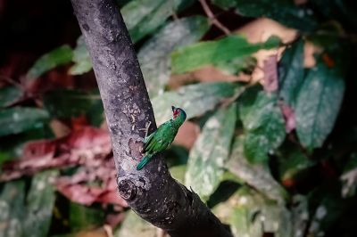
<instances>
[{"instance_id":1,"label":"small tan-brown dry leaf just right of the green bird's body","mask_svg":"<svg viewBox=\"0 0 357 237\"><path fill-rule=\"evenodd\" d=\"M199 134L200 128L195 123L187 121L179 128L178 135L176 135L173 143L190 150Z\"/></svg>"}]
</instances>

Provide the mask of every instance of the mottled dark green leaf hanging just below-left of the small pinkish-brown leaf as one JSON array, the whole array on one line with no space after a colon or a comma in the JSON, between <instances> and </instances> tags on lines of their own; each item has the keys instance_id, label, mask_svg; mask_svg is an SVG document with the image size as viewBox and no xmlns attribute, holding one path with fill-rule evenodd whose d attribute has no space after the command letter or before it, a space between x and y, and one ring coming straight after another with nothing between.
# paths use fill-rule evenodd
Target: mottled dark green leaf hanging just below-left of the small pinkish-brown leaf
<instances>
[{"instance_id":1,"label":"mottled dark green leaf hanging just below-left of the small pinkish-brown leaf","mask_svg":"<svg viewBox=\"0 0 357 237\"><path fill-rule=\"evenodd\" d=\"M285 121L278 107L278 96L253 87L245 91L238 104L246 130L245 156L251 162L265 161L267 153L278 148L285 138Z\"/></svg>"}]
</instances>

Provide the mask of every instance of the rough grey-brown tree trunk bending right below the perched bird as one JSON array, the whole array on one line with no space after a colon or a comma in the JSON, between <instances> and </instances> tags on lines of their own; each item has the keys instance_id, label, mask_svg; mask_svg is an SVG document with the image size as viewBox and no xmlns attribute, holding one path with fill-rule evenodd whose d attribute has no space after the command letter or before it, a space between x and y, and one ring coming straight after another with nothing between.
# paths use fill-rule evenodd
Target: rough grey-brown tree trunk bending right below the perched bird
<instances>
[{"instance_id":1,"label":"rough grey-brown tree trunk bending right below the perched bird","mask_svg":"<svg viewBox=\"0 0 357 237\"><path fill-rule=\"evenodd\" d=\"M157 156L141 171L145 124L156 129L137 55L113 0L71 0L91 55L118 171L120 196L170 236L231 236L195 192L170 176ZM167 108L170 110L170 108Z\"/></svg>"}]
</instances>

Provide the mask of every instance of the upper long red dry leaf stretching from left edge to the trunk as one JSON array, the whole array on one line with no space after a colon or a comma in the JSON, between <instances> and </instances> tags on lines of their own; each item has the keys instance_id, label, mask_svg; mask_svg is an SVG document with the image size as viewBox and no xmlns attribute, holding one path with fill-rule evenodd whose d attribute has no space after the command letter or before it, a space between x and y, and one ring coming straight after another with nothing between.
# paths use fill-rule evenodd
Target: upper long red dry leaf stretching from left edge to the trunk
<instances>
[{"instance_id":1,"label":"upper long red dry leaf stretching from left edge to the trunk","mask_svg":"<svg viewBox=\"0 0 357 237\"><path fill-rule=\"evenodd\" d=\"M101 165L112 151L109 135L95 127L83 127L60 139L26 144L23 157L4 163L0 181L31 175L46 168L62 168L74 164Z\"/></svg>"}]
</instances>

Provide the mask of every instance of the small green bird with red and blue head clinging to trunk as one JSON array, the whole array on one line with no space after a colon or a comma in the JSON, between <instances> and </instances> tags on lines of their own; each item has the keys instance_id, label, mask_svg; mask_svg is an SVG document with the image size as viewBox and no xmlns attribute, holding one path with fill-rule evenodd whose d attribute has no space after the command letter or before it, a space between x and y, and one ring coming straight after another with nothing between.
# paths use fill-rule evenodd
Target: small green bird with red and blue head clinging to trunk
<instances>
[{"instance_id":1,"label":"small green bird with red and blue head clinging to trunk","mask_svg":"<svg viewBox=\"0 0 357 237\"><path fill-rule=\"evenodd\" d=\"M179 127L185 122L186 112L180 108L171 106L172 119L164 122L151 135L145 135L144 152L145 157L137 165L137 170L142 169L154 155L164 151L178 134ZM149 125L150 126L150 125ZM148 128L148 127L147 127ZM146 129L147 129L146 128ZM147 133L147 130L146 130Z\"/></svg>"}]
</instances>

